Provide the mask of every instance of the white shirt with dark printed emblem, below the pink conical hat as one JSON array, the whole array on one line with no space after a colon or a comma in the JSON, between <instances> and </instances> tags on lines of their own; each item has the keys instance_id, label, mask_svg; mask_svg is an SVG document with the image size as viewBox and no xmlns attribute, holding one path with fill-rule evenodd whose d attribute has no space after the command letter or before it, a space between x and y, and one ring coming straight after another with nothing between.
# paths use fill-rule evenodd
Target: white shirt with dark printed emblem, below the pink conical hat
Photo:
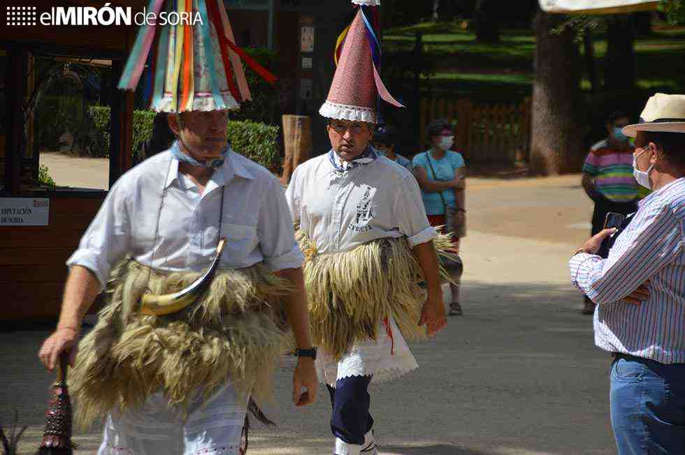
<instances>
[{"instance_id":1,"label":"white shirt with dark printed emblem, below the pink conical hat","mask_svg":"<svg viewBox=\"0 0 685 455\"><path fill-rule=\"evenodd\" d=\"M342 173L329 154L312 158L293 173L286 198L295 222L319 253L347 251L385 237L407 237L413 247L437 235L414 176L380 154Z\"/></svg>"}]
</instances>

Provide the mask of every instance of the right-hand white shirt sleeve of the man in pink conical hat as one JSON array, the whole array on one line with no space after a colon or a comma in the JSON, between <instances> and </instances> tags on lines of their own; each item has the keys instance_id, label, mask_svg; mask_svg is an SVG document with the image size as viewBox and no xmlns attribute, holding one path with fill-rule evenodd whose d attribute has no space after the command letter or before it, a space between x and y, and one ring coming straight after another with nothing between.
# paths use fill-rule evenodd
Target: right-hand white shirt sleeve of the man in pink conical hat
<instances>
[{"instance_id":1,"label":"right-hand white shirt sleeve of the man in pink conical hat","mask_svg":"<svg viewBox=\"0 0 685 455\"><path fill-rule=\"evenodd\" d=\"M435 228L428 223L419 184L411 174L401 180L400 188L396 192L394 212L398 220L398 228L407 237L409 246L412 248L438 236Z\"/></svg>"}]
</instances>

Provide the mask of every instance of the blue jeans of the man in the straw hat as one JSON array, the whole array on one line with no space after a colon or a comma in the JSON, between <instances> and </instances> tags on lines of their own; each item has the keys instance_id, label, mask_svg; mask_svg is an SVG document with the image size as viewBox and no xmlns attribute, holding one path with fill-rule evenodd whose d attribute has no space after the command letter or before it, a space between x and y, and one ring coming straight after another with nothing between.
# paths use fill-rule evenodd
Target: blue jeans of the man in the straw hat
<instances>
[{"instance_id":1,"label":"blue jeans of the man in the straw hat","mask_svg":"<svg viewBox=\"0 0 685 455\"><path fill-rule=\"evenodd\" d=\"M685 454L685 365L619 357L611 368L619 455Z\"/></svg>"}]
</instances>

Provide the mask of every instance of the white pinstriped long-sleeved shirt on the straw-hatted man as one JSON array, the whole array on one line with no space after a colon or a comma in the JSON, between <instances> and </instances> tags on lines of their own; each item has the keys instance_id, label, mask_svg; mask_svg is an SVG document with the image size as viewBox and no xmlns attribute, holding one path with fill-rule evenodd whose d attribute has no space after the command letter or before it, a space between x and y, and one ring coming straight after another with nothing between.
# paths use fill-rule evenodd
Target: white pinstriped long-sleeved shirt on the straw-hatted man
<instances>
[{"instance_id":1,"label":"white pinstriped long-sleeved shirt on the straw-hatted man","mask_svg":"<svg viewBox=\"0 0 685 455\"><path fill-rule=\"evenodd\" d=\"M685 177L639 203L609 258L579 253L571 281L598 306L595 344L603 350L685 363ZM623 298L649 280L640 305Z\"/></svg>"}]
</instances>

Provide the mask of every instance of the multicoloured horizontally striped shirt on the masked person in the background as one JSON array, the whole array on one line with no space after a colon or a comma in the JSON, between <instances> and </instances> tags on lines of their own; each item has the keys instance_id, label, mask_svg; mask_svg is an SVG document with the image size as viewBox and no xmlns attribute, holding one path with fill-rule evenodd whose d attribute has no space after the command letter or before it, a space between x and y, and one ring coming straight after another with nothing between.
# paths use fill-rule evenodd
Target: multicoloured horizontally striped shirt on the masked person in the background
<instances>
[{"instance_id":1,"label":"multicoloured horizontally striped shirt on the masked person in the background","mask_svg":"<svg viewBox=\"0 0 685 455\"><path fill-rule=\"evenodd\" d=\"M600 141L585 158L583 172L595 177L597 191L612 202L630 202L637 197L633 149L615 151L606 140Z\"/></svg>"}]
</instances>

